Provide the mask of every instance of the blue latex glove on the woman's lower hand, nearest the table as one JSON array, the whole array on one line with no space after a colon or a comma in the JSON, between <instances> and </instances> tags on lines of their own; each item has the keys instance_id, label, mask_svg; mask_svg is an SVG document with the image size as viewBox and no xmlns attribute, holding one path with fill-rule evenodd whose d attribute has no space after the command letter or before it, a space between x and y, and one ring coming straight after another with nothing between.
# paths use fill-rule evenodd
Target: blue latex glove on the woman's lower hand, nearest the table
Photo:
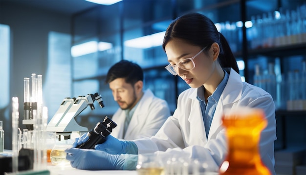
<instances>
[{"instance_id":1,"label":"blue latex glove on the woman's lower hand, nearest the table","mask_svg":"<svg viewBox=\"0 0 306 175\"><path fill-rule=\"evenodd\" d=\"M82 170L123 170L125 155L92 149L66 149L66 159L73 168Z\"/></svg>"}]
</instances>

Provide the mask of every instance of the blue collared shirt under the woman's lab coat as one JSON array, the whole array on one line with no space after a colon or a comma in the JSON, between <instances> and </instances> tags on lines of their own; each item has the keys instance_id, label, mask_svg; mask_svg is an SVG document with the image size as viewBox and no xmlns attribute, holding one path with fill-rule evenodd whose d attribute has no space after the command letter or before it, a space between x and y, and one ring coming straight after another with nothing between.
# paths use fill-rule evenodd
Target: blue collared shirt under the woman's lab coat
<instances>
[{"instance_id":1,"label":"blue collared shirt under the woman's lab coat","mask_svg":"<svg viewBox=\"0 0 306 175\"><path fill-rule=\"evenodd\" d=\"M206 138L208 138L209 129L213 121L213 117L218 105L219 98L228 81L229 74L225 70L223 71L225 72L224 78L221 81L221 83L218 85L216 90L213 92L213 94L208 97L207 104L205 102L205 97L204 97L204 90L205 90L204 86L197 88L197 100L200 102L201 106L201 112L206 131Z\"/></svg>"}]
</instances>

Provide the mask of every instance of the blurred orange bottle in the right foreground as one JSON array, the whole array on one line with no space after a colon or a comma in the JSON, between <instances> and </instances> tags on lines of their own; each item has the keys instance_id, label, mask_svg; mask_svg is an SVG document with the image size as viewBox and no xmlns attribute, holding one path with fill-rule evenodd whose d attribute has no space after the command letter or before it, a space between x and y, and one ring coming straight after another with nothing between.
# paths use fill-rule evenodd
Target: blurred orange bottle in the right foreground
<instances>
[{"instance_id":1,"label":"blurred orange bottle in the right foreground","mask_svg":"<svg viewBox=\"0 0 306 175\"><path fill-rule=\"evenodd\" d=\"M261 131L267 121L261 109L244 109L222 118L228 139L228 154L220 175L270 175L259 152Z\"/></svg>"}]
</instances>

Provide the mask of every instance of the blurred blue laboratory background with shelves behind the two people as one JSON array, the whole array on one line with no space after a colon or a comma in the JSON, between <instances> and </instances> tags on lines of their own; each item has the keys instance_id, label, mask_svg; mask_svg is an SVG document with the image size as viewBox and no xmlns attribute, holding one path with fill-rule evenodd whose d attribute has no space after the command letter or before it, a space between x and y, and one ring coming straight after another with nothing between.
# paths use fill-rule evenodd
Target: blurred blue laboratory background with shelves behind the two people
<instances>
[{"instance_id":1,"label":"blurred blue laboratory background with shelves behind the two people","mask_svg":"<svg viewBox=\"0 0 306 175\"><path fill-rule=\"evenodd\" d=\"M23 78L43 75L48 120L63 99L98 92L105 108L85 109L77 122L94 128L118 108L104 83L126 59L145 71L145 89L173 112L188 88L168 65L161 44L170 22L198 12L215 22L236 56L243 81L262 87L276 105L276 150L306 149L305 0L0 0L0 121L11 149L12 97L23 119ZM303 152L304 153L304 152ZM304 154L305 155L305 154Z\"/></svg>"}]
</instances>

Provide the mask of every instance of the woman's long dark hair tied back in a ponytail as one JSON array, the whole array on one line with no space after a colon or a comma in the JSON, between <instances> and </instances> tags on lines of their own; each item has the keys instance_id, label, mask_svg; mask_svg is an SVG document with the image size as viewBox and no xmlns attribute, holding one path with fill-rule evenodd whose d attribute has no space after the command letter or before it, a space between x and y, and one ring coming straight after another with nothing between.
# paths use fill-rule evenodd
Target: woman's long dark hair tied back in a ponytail
<instances>
[{"instance_id":1,"label":"woman's long dark hair tied back in a ponytail","mask_svg":"<svg viewBox=\"0 0 306 175\"><path fill-rule=\"evenodd\" d=\"M199 13L189 13L176 18L168 26L163 41L163 49L174 38L179 38L189 44L210 48L218 43L220 47L219 63L222 67L232 67L237 73L239 68L229 44L224 36L218 32L214 22Z\"/></svg>"}]
</instances>

